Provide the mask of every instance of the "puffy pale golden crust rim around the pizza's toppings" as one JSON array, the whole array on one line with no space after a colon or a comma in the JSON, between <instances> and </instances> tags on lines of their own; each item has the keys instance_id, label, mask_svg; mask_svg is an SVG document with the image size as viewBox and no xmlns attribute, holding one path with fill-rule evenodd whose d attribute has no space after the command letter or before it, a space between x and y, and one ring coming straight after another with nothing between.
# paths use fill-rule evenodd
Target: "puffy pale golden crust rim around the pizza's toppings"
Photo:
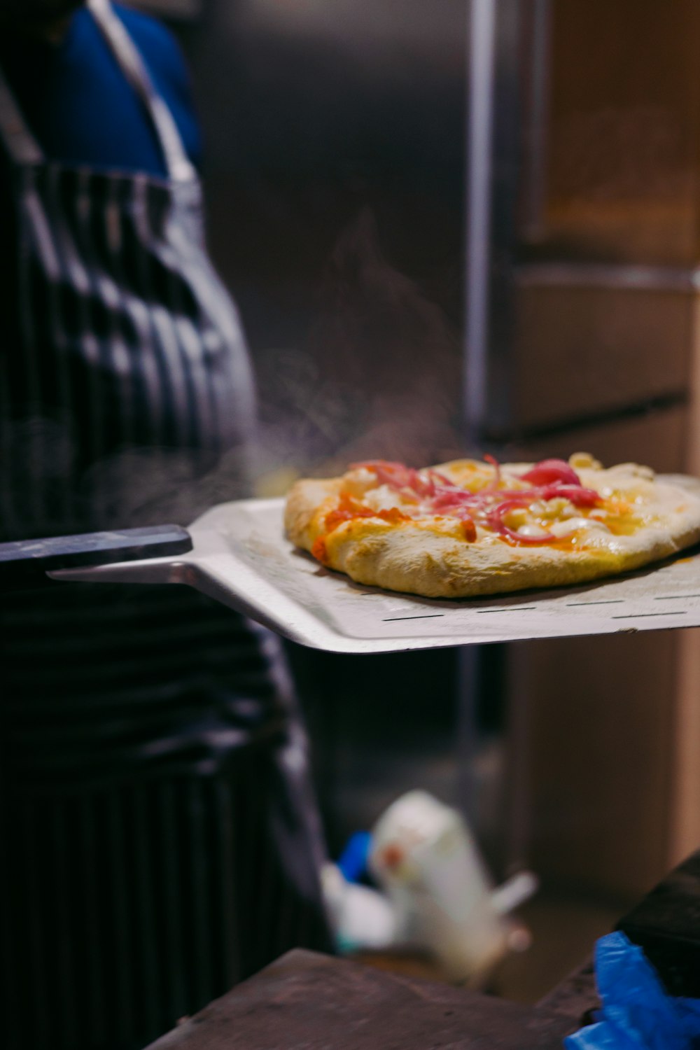
<instances>
[{"instance_id":1,"label":"puffy pale golden crust rim around the pizza's toppings","mask_svg":"<svg viewBox=\"0 0 700 1050\"><path fill-rule=\"evenodd\" d=\"M437 469L458 479L471 462ZM606 470L590 457L572 457L572 462L587 487L603 495L611 488L633 497L641 492L650 524L631 536L592 534L578 549L517 546L495 533L468 542L455 526L450 534L424 522L397 526L379 518L352 519L326 533L325 514L352 475L298 481L288 497L284 524L292 542L305 550L323 538L324 564L357 583L448 598L586 583L659 561L700 540L700 488L698 482L694 487L694 479L656 479L637 464ZM590 465L579 466L581 462ZM502 469L517 476L531 466L505 464Z\"/></svg>"}]
</instances>

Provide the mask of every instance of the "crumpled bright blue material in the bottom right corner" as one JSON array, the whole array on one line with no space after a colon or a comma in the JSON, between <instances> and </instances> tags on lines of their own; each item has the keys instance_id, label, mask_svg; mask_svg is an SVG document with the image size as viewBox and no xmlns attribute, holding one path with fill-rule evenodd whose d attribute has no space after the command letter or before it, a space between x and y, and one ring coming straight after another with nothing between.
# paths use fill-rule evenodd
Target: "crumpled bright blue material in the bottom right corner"
<instances>
[{"instance_id":1,"label":"crumpled bright blue material in the bottom right corner","mask_svg":"<svg viewBox=\"0 0 700 1050\"><path fill-rule=\"evenodd\" d=\"M624 933L598 941L595 974L602 1009L596 1024L565 1040L567 1050L700 1048L700 1000L669 995L641 948Z\"/></svg>"}]
</instances>

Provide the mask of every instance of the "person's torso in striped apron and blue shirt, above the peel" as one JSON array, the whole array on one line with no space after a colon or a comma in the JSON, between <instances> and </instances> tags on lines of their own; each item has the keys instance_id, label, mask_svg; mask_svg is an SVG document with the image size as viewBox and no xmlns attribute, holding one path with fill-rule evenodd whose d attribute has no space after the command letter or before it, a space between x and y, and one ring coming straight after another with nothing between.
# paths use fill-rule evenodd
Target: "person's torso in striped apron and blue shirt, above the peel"
<instances>
[{"instance_id":1,"label":"person's torso in striped apron and blue shirt, above the peel","mask_svg":"<svg viewBox=\"0 0 700 1050\"><path fill-rule=\"evenodd\" d=\"M153 140L167 175L130 169L141 162L128 150L106 166L94 156L90 164L79 155L80 136L68 152L63 143L60 161L47 156L5 78L0 166L10 223L0 265L10 279L0 311L7 467L0 528L7 538L157 521L172 506L169 519L188 524L208 492L234 498L246 485L250 364L204 246L199 184L182 129L125 22L107 0L89 7L66 38L68 81L78 77L89 93L101 55L107 71L97 76L98 99L121 78L118 93L130 106L105 113L105 126L128 118L143 132L145 124L142 145ZM48 120L45 100L30 108L37 126ZM50 139L46 129L43 138ZM85 150L87 139L86 131Z\"/></svg>"}]
</instances>

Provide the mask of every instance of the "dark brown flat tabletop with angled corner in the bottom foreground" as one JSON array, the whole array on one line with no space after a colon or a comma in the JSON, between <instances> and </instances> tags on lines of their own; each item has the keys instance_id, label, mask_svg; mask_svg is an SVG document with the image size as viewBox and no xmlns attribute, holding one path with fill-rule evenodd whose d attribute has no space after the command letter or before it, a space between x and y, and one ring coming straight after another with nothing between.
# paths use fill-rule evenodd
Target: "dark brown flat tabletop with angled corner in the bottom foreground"
<instances>
[{"instance_id":1,"label":"dark brown flat tabletop with angled corner in the bottom foreground","mask_svg":"<svg viewBox=\"0 0 700 1050\"><path fill-rule=\"evenodd\" d=\"M570 1016L290 951L149 1050L561 1050Z\"/></svg>"}]
</instances>

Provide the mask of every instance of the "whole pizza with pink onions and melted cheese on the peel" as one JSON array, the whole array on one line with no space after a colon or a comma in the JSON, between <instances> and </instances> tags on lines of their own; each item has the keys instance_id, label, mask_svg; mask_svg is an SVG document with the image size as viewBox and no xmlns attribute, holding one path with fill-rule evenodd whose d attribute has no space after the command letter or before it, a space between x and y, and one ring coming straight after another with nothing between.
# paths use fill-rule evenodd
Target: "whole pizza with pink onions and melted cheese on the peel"
<instances>
[{"instance_id":1,"label":"whole pizza with pink onions and melted cheese on the peel","mask_svg":"<svg viewBox=\"0 0 700 1050\"><path fill-rule=\"evenodd\" d=\"M289 492L287 533L360 584L425 597L573 585L700 540L700 483L646 466L370 460Z\"/></svg>"}]
</instances>

